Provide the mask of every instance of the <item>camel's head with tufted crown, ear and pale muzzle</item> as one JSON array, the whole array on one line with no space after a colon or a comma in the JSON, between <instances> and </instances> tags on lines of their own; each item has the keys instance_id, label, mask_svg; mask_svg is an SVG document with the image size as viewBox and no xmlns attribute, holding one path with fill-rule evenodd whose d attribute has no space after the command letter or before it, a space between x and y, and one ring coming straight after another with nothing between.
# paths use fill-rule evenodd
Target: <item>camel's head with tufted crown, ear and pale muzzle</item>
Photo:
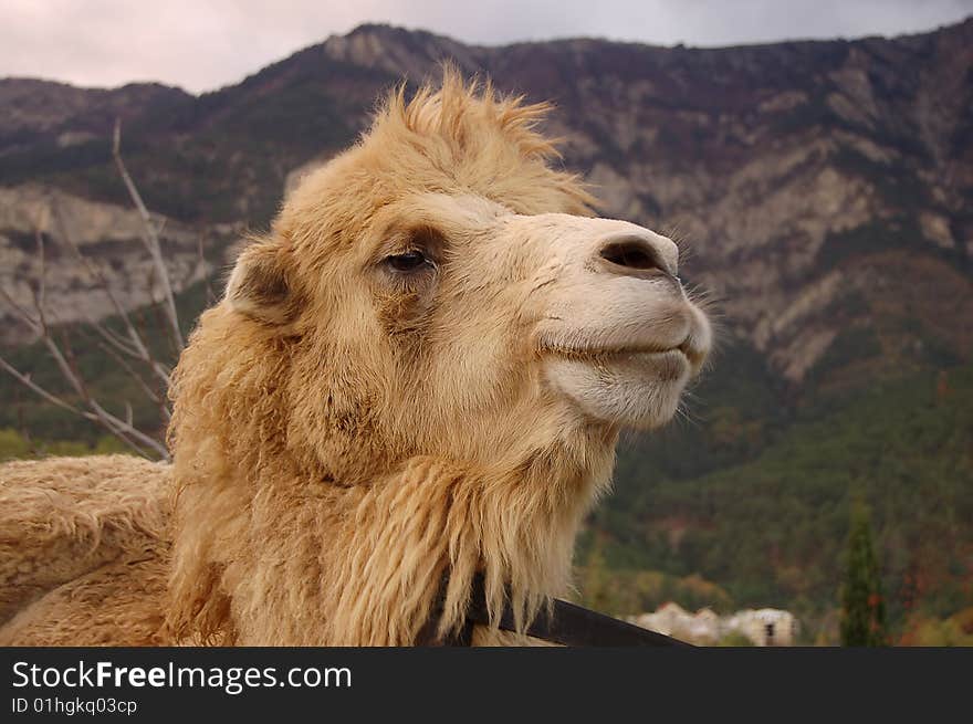
<instances>
[{"instance_id":1,"label":"camel's head with tufted crown, ear and pale muzzle","mask_svg":"<svg viewBox=\"0 0 973 724\"><path fill-rule=\"evenodd\" d=\"M710 346L677 246L590 217L544 111L450 74L393 95L242 252L222 306L281 357L284 437L325 475L613 447L676 412Z\"/></svg>"}]
</instances>

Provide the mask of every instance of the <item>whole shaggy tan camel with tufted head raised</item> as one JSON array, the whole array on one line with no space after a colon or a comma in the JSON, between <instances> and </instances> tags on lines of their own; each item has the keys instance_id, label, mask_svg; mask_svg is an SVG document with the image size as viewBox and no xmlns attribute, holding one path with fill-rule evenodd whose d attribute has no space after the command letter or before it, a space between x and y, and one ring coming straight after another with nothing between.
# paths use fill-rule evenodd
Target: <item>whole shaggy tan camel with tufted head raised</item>
<instances>
[{"instance_id":1,"label":"whole shaggy tan camel with tufted head raised","mask_svg":"<svg viewBox=\"0 0 973 724\"><path fill-rule=\"evenodd\" d=\"M568 591L619 432L674 415L711 327L547 111L452 71L391 92L201 316L170 466L0 469L0 643L408 646L474 576L519 631Z\"/></svg>"}]
</instances>

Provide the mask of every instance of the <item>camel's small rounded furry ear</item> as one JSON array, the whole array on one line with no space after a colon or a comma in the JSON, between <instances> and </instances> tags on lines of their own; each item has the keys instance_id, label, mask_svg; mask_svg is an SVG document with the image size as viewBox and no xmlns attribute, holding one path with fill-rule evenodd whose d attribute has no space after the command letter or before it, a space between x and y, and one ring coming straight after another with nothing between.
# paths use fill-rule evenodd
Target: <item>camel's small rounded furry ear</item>
<instances>
[{"instance_id":1,"label":"camel's small rounded furry ear","mask_svg":"<svg viewBox=\"0 0 973 724\"><path fill-rule=\"evenodd\" d=\"M266 324L287 324L297 312L294 287L280 244L259 241L240 254L227 282L230 308Z\"/></svg>"}]
</instances>

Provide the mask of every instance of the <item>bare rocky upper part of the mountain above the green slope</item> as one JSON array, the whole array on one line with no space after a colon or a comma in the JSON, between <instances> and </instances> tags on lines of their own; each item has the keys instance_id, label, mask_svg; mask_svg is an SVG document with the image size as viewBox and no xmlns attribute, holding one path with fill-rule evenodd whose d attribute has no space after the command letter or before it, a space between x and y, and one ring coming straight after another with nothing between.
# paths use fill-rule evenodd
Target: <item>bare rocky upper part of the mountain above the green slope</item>
<instances>
[{"instance_id":1,"label":"bare rocky upper part of the mountain above the green slope","mask_svg":"<svg viewBox=\"0 0 973 724\"><path fill-rule=\"evenodd\" d=\"M354 138L381 90L435 76L447 57L554 101L550 130L567 138L565 164L586 172L603 212L679 238L684 275L781 378L830 370L841 385L973 354L973 20L721 50L479 48L366 25L198 98L0 81L0 281L20 288L24 210L53 195L76 209L126 298L142 301L129 261L140 248L123 241L134 235L109 165L114 116L147 202L169 218L185 284L197 273L190 237L216 239L218 258L233 224L266 222L289 174ZM72 264L51 261L67 306L104 312Z\"/></svg>"}]
</instances>

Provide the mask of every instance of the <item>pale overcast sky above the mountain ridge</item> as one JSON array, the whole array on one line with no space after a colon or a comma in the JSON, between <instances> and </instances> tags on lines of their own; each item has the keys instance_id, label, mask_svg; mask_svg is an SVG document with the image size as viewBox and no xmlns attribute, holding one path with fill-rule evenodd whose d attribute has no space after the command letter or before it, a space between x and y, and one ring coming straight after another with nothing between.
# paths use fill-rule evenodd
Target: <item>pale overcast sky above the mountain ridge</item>
<instances>
[{"instance_id":1,"label":"pale overcast sky above the mountain ridge","mask_svg":"<svg viewBox=\"0 0 973 724\"><path fill-rule=\"evenodd\" d=\"M973 0L0 0L0 77L198 93L363 22L482 44L734 45L922 32L971 14Z\"/></svg>"}]
</instances>

